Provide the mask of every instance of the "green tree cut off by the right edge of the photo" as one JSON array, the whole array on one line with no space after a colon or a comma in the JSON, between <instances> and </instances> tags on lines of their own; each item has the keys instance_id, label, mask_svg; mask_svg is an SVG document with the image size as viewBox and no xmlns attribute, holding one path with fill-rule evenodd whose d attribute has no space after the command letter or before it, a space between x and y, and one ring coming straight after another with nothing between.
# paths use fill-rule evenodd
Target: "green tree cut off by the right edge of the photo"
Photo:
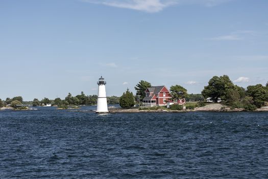
<instances>
[{"instance_id":1,"label":"green tree cut off by the right edge of the photo","mask_svg":"<svg viewBox=\"0 0 268 179\"><path fill-rule=\"evenodd\" d=\"M268 90L262 84L248 86L246 94L252 97L253 104L257 107L263 106L264 102L268 99Z\"/></svg>"}]
</instances>

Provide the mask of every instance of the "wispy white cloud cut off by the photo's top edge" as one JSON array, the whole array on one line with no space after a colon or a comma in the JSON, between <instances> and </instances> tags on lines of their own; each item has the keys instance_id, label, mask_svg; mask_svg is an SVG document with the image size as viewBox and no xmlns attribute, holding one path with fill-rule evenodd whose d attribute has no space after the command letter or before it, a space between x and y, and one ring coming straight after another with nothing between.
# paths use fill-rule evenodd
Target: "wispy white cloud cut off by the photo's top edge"
<instances>
[{"instance_id":1,"label":"wispy white cloud cut off by the photo's top edge","mask_svg":"<svg viewBox=\"0 0 268 179\"><path fill-rule=\"evenodd\" d=\"M82 0L82 1L117 8L126 8L126 9L133 9L138 11L154 13L162 11L164 8L176 4L179 5L200 4L206 7L213 7L232 0Z\"/></svg>"}]
</instances>

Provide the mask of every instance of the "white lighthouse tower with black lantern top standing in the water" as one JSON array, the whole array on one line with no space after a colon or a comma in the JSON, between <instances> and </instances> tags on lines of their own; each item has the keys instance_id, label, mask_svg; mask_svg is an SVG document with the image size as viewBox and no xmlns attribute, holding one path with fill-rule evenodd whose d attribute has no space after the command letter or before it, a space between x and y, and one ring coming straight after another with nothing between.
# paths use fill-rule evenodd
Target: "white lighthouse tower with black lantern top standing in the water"
<instances>
[{"instance_id":1,"label":"white lighthouse tower with black lantern top standing in the water","mask_svg":"<svg viewBox=\"0 0 268 179\"><path fill-rule=\"evenodd\" d=\"M99 89L98 89L98 101L97 101L96 113L109 113L107 106L106 90L105 90L106 81L104 81L104 78L101 76L97 84L99 85Z\"/></svg>"}]
</instances>

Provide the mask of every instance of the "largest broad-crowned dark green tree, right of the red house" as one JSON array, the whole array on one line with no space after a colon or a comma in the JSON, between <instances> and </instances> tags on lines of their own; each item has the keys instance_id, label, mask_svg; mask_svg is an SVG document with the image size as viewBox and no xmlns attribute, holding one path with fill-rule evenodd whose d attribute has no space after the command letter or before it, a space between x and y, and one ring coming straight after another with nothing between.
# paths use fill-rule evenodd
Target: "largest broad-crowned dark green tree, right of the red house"
<instances>
[{"instance_id":1,"label":"largest broad-crowned dark green tree, right of the red house","mask_svg":"<svg viewBox=\"0 0 268 179\"><path fill-rule=\"evenodd\" d=\"M211 98L214 102L217 102L219 98L225 101L228 98L227 94L230 89L235 89L235 85L227 75L213 76L208 85L204 87L202 95L204 98Z\"/></svg>"}]
</instances>

